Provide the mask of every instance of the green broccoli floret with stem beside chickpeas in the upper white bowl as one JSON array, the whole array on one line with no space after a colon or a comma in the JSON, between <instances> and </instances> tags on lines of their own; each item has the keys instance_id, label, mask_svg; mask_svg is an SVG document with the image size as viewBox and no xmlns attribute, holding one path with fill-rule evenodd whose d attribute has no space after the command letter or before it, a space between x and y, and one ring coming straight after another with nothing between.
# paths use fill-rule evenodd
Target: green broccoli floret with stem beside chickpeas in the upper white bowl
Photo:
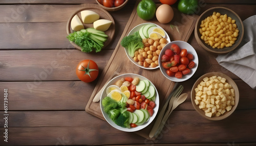
<instances>
[{"instance_id":1,"label":"green broccoli floret with stem beside chickpeas in the upper white bowl","mask_svg":"<svg viewBox=\"0 0 256 146\"><path fill-rule=\"evenodd\" d=\"M136 35L125 36L121 40L121 45L128 50L128 54L131 57L134 57L134 52L139 48L144 47L142 38Z\"/></svg>"}]
</instances>

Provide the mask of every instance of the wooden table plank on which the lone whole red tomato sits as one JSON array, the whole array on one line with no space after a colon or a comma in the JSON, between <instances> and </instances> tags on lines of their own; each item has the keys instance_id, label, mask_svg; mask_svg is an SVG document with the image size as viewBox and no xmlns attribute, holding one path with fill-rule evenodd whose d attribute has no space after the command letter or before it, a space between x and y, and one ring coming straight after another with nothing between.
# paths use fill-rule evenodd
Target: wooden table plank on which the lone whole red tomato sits
<instances>
[{"instance_id":1,"label":"wooden table plank on which the lone whole red tomato sits","mask_svg":"<svg viewBox=\"0 0 256 146\"><path fill-rule=\"evenodd\" d=\"M113 50L90 54L78 50L1 51L0 81L78 80L75 68L80 61L94 60L101 72L112 53Z\"/></svg>"}]
</instances>

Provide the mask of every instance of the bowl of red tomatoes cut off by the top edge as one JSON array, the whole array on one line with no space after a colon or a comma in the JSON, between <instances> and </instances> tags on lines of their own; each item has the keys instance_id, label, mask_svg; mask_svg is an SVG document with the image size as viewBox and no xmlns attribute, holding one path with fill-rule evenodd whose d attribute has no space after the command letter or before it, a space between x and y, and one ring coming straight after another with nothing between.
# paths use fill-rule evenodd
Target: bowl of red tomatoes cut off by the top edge
<instances>
[{"instance_id":1,"label":"bowl of red tomatoes cut off by the top edge","mask_svg":"<svg viewBox=\"0 0 256 146\"><path fill-rule=\"evenodd\" d=\"M117 11L122 9L128 0L96 0L96 2L106 11Z\"/></svg>"}]
</instances>

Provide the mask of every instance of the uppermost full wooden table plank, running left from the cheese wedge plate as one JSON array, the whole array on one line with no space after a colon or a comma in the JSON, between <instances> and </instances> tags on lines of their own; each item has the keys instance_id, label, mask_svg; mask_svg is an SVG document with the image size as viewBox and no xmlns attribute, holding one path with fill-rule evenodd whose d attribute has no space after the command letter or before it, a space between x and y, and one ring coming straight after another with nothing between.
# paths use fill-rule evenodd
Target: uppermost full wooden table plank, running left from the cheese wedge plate
<instances>
[{"instance_id":1,"label":"uppermost full wooden table plank, running left from the cheese wedge plate","mask_svg":"<svg viewBox=\"0 0 256 146\"><path fill-rule=\"evenodd\" d=\"M127 4L125 7L133 6ZM0 22L67 22L70 15L81 8L82 5L9 5L8 7L0 5ZM130 16L131 11L131 9L121 9L109 13L118 22L127 22L126 18Z\"/></svg>"}]
</instances>

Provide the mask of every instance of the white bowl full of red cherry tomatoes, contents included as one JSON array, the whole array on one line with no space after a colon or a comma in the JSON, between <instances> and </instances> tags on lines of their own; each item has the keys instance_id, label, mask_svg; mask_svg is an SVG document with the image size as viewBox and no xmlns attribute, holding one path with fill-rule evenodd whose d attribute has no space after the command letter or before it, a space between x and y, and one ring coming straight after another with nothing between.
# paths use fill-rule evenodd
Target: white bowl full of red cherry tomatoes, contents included
<instances>
[{"instance_id":1,"label":"white bowl full of red cherry tomatoes, contents included","mask_svg":"<svg viewBox=\"0 0 256 146\"><path fill-rule=\"evenodd\" d=\"M198 56L193 46L185 41L167 43L159 54L159 67L162 74L174 82L191 78L198 67Z\"/></svg>"}]
</instances>

